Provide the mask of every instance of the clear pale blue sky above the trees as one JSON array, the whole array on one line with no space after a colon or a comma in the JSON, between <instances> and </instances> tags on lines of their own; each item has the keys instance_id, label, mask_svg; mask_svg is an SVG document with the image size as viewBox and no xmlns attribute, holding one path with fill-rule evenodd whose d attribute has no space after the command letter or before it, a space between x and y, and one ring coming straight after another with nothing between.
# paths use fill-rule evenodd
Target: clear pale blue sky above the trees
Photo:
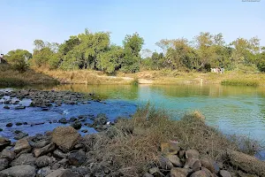
<instances>
[{"instance_id":1,"label":"clear pale blue sky above the trees","mask_svg":"<svg viewBox=\"0 0 265 177\"><path fill-rule=\"evenodd\" d=\"M138 32L144 49L161 39L223 33L226 42L258 36L265 45L265 0L0 0L0 51L34 49L35 39L64 42L87 27L120 45Z\"/></svg>"}]
</instances>

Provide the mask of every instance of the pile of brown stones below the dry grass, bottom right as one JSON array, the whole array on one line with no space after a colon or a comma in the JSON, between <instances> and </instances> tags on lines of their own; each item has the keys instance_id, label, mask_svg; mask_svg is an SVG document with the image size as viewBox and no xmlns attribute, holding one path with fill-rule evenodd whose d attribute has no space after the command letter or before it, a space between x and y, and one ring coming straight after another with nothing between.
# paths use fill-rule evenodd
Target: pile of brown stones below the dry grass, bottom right
<instances>
[{"instance_id":1,"label":"pile of brown stones below the dry grass, bottom right","mask_svg":"<svg viewBox=\"0 0 265 177\"><path fill-rule=\"evenodd\" d=\"M178 142L163 142L161 150L162 156L158 159L158 163L150 165L149 171L144 174L144 177L265 176L265 162L239 151L227 150L226 159L229 161L223 165L211 158L201 157L198 150L181 150L178 147Z\"/></svg>"}]
</instances>

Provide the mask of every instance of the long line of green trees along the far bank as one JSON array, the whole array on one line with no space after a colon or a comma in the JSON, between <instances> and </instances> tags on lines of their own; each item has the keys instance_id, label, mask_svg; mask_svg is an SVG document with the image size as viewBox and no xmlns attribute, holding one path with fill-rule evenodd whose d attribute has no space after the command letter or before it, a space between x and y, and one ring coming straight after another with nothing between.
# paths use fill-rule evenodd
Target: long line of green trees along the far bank
<instances>
[{"instance_id":1,"label":"long line of green trees along the far bank","mask_svg":"<svg viewBox=\"0 0 265 177\"><path fill-rule=\"evenodd\" d=\"M110 33L91 33L86 29L63 43L35 40L33 54L27 50L11 50L5 58L21 72L27 65L51 70L92 69L106 73L161 69L208 72L211 67L265 72L265 47L261 47L260 41L253 37L226 43L221 33L201 33L194 36L193 41L180 38L156 42L163 50L158 53L142 50L144 39L137 33L126 35L123 45L117 46L110 42Z\"/></svg>"}]
</instances>

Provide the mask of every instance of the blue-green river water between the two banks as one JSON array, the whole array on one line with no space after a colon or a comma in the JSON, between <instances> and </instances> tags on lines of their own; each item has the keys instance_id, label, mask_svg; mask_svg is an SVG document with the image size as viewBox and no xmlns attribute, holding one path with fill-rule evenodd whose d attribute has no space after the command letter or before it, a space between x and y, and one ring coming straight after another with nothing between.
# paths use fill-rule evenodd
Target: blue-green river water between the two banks
<instances>
[{"instance_id":1,"label":"blue-green river water between the two banks","mask_svg":"<svg viewBox=\"0 0 265 177\"><path fill-rule=\"evenodd\" d=\"M5 111L0 104L0 126L5 130L0 135L10 135L5 123L15 120L40 122L62 117L70 118L80 114L106 112L113 120L117 116L129 117L137 106L147 104L167 110L174 119L186 112L199 110L206 122L217 127L224 134L246 135L265 145L265 88L231 87L221 85L59 85L37 89L71 90L95 93L105 98L105 103L63 105L51 112L36 108L23 111ZM22 113L21 113L22 112ZM30 127L27 132L51 130L57 124ZM22 127L21 127L22 128ZM25 129L25 127L23 127ZM93 131L93 130L90 130Z\"/></svg>"}]
</instances>

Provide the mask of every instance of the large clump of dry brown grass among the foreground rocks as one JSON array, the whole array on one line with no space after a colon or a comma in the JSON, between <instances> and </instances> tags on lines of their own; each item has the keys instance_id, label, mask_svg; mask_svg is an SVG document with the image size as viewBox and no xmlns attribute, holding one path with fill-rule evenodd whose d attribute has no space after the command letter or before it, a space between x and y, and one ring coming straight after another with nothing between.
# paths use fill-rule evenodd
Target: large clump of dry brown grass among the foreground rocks
<instances>
[{"instance_id":1,"label":"large clump of dry brown grass among the foreground rocks","mask_svg":"<svg viewBox=\"0 0 265 177\"><path fill-rule=\"evenodd\" d=\"M118 120L106 133L88 135L85 144L89 159L108 162L111 176L140 176L149 164L157 163L161 142L178 141L183 150L199 150L202 156L213 159L223 158L228 149L241 150L239 142L245 140L228 139L205 125L203 119L200 112L193 112L172 120L166 112L147 105L133 119ZM247 148L246 152L254 152Z\"/></svg>"}]
</instances>

